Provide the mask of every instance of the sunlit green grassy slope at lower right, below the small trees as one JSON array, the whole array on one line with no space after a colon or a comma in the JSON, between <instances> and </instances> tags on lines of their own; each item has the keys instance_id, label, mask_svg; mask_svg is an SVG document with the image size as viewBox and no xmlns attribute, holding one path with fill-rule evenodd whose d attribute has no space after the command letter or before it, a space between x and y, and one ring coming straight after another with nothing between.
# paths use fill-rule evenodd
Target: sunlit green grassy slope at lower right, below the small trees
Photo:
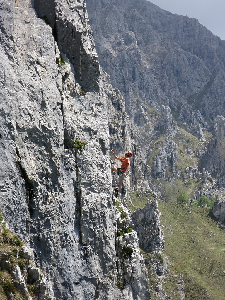
<instances>
[{"instance_id":1,"label":"sunlit green grassy slope at lower right, below the small trees","mask_svg":"<svg viewBox=\"0 0 225 300\"><path fill-rule=\"evenodd\" d=\"M132 204L134 202L137 207L138 197L135 193L130 196ZM140 198L140 207L148 198ZM129 207L131 211L135 210L131 203ZM177 283L179 274L182 274L185 299L223 300L225 251L220 249L225 247L225 233L217 226L217 222L208 217L210 209L162 201L159 201L158 208L165 233L164 259L169 263L169 268L172 269L186 257L165 280L163 288L167 295L174 300L180 299Z\"/></svg>"}]
</instances>

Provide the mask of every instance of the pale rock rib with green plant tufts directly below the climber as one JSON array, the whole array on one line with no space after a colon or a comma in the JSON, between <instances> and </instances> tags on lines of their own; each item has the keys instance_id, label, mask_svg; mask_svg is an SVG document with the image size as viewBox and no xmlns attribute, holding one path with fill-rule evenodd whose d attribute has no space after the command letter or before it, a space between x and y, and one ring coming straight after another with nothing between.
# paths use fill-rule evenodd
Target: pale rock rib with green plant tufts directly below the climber
<instances>
[{"instance_id":1,"label":"pale rock rib with green plant tufts directly below the climber","mask_svg":"<svg viewBox=\"0 0 225 300\"><path fill-rule=\"evenodd\" d=\"M136 294L140 299L149 299L149 278L143 256L138 246L137 232L133 231L133 221L129 218L127 208L117 201L117 285L123 289L123 294ZM140 274L137 280L136 272ZM144 289L143 287L146 287Z\"/></svg>"}]
</instances>

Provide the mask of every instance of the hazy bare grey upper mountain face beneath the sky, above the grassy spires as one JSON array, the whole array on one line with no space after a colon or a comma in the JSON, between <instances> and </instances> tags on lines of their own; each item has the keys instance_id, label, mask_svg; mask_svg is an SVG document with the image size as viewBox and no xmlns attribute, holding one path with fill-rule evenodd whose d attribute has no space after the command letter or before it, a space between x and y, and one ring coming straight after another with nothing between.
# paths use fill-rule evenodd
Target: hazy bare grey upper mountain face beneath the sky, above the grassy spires
<instances>
[{"instance_id":1,"label":"hazy bare grey upper mountain face beneath the sky, above the grassy spires","mask_svg":"<svg viewBox=\"0 0 225 300\"><path fill-rule=\"evenodd\" d=\"M157 109L167 104L186 123L193 123L195 110L209 124L224 115L225 41L198 20L149 1L86 0L86 5L100 65L124 95L134 123L147 122L147 104Z\"/></svg>"}]
</instances>

